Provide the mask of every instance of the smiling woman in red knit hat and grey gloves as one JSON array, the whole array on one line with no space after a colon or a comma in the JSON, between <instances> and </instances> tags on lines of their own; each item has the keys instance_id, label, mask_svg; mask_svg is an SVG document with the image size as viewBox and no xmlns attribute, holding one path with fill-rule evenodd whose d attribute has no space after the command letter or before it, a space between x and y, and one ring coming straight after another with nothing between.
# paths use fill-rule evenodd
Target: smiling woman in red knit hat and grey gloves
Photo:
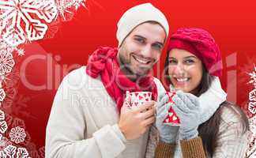
<instances>
[{"instance_id":1,"label":"smiling woman in red knit hat and grey gloves","mask_svg":"<svg viewBox=\"0 0 256 158\"><path fill-rule=\"evenodd\" d=\"M160 142L155 157L242 158L247 149L249 124L243 111L225 100L209 106L213 97L199 103L209 87L221 88L221 56L213 37L201 28L179 28L172 36L165 62L165 74L180 91L168 102L164 95L157 104L156 127ZM213 85L214 81L214 85ZM206 105L207 104L207 105ZM163 124L172 108L180 126ZM211 115L209 115L211 114ZM149 146L156 141L151 134Z\"/></svg>"}]
</instances>

